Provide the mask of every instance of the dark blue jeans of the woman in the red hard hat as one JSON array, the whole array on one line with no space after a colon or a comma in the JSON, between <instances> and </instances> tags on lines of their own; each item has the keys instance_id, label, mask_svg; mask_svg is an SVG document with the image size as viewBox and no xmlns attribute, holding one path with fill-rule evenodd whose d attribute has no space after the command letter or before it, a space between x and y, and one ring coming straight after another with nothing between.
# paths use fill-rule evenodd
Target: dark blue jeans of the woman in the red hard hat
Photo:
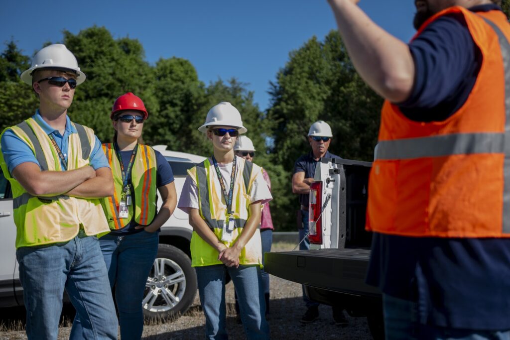
<instances>
[{"instance_id":1,"label":"dark blue jeans of the woman in the red hard hat","mask_svg":"<svg viewBox=\"0 0 510 340\"><path fill-rule=\"evenodd\" d=\"M142 230L126 236L106 235L99 244L108 269L110 291L115 285L120 337L122 340L140 339L143 292L158 254L159 233Z\"/></svg>"}]
</instances>

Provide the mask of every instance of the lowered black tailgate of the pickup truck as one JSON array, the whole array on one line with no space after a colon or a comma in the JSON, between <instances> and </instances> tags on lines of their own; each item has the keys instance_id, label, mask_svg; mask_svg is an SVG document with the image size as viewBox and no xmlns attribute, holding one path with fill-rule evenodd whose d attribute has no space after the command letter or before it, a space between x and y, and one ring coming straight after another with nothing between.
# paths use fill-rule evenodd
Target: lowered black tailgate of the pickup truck
<instances>
[{"instance_id":1,"label":"lowered black tailgate of the pickup truck","mask_svg":"<svg viewBox=\"0 0 510 340\"><path fill-rule=\"evenodd\" d=\"M354 295L380 296L365 283L369 249L317 249L265 253L265 271L283 279Z\"/></svg>"}]
</instances>

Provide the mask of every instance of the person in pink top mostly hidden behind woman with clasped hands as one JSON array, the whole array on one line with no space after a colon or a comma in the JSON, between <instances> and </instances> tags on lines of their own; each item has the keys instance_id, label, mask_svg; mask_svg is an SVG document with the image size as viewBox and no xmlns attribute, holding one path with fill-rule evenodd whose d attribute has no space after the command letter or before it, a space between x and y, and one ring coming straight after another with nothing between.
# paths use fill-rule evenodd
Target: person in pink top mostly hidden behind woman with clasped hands
<instances>
[{"instance_id":1,"label":"person in pink top mostly hidden behind woman with clasped hands","mask_svg":"<svg viewBox=\"0 0 510 340\"><path fill-rule=\"evenodd\" d=\"M253 162L255 156L255 147L253 142L247 136L239 136L234 145L236 155L244 158L246 161ZM262 169L262 175L267 183L269 190L271 190L271 180L265 169ZM264 204L262 208L262 217L260 221L260 237L262 240L262 265L264 266L264 253L271 251L273 244L273 220L271 218L271 211L269 210L269 203ZM266 273L264 268L261 270L262 285L264 287L264 298L266 301L266 319L269 316L269 274ZM239 313L239 304L236 296L236 311Z\"/></svg>"}]
</instances>

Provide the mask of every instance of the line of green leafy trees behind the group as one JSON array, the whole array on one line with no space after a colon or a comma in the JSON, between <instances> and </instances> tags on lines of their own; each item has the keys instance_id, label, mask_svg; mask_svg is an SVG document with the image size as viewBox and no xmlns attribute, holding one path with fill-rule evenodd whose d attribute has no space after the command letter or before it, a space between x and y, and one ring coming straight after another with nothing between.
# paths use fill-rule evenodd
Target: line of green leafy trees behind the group
<instances>
[{"instance_id":1,"label":"line of green leafy trees behind the group","mask_svg":"<svg viewBox=\"0 0 510 340\"><path fill-rule=\"evenodd\" d=\"M295 228L293 212L298 202L291 193L292 170L298 156L310 150L306 135L315 120L326 120L333 128L332 152L351 159L372 157L381 99L356 75L335 32L324 41L314 37L290 53L271 84L272 106L266 112L253 103L247 84L233 78L206 85L198 79L195 67L178 57L161 58L150 65L138 40L115 39L104 27L78 34L64 31L61 42L87 75L75 91L69 115L92 127L102 141L111 141L113 136L110 112L115 98L133 92L149 112L145 143L210 155L212 146L198 127L214 105L231 102L241 112L246 135L257 149L256 163L270 174L277 230ZM38 106L31 87L19 79L30 67L29 61L14 41L0 55L2 128L30 117Z\"/></svg>"}]
</instances>

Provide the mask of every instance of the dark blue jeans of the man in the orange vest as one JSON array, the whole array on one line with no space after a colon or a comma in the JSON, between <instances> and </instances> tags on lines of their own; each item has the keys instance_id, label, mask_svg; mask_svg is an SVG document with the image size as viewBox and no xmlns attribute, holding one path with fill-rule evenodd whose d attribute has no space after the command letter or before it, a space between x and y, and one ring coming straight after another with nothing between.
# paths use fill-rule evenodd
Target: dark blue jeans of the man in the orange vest
<instances>
[{"instance_id":1,"label":"dark blue jeans of the man in the orange vest","mask_svg":"<svg viewBox=\"0 0 510 340\"><path fill-rule=\"evenodd\" d=\"M473 330L424 325L418 322L416 302L382 294L385 337L391 340L503 340L510 339L508 330Z\"/></svg>"}]
</instances>

